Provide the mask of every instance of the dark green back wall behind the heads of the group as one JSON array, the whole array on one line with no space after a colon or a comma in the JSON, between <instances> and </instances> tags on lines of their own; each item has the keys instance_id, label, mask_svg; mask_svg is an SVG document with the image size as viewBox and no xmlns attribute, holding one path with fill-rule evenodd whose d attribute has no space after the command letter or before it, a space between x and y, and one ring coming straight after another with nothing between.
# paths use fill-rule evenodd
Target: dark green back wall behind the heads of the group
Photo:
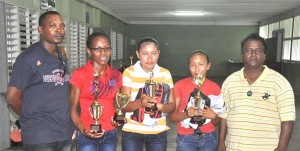
<instances>
[{"instance_id":1,"label":"dark green back wall behind the heads of the group","mask_svg":"<svg viewBox=\"0 0 300 151\"><path fill-rule=\"evenodd\" d=\"M135 54L139 40L150 36L160 43L159 64L173 76L189 74L189 55L200 49L207 52L212 63L208 76L225 77L228 59L241 62L240 42L251 32L258 32L258 26L129 25L126 53Z\"/></svg>"}]
</instances>

